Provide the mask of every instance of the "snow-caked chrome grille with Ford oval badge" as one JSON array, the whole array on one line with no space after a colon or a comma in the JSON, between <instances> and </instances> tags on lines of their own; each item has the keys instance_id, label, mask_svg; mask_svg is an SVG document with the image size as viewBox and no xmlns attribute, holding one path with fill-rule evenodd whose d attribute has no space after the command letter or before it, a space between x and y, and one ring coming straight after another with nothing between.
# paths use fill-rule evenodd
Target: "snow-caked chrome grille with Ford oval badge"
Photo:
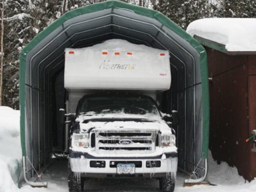
<instances>
[{"instance_id":1,"label":"snow-caked chrome grille with Ford oval badge","mask_svg":"<svg viewBox=\"0 0 256 192\"><path fill-rule=\"evenodd\" d=\"M95 150L143 150L155 151L158 134L156 131L115 130L91 132L91 147Z\"/></svg>"}]
</instances>

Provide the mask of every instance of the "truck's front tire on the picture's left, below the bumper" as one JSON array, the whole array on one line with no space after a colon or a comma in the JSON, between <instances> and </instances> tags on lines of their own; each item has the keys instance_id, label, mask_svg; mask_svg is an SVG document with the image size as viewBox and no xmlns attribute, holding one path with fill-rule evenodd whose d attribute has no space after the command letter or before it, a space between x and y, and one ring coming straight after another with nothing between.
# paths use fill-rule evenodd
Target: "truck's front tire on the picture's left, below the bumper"
<instances>
[{"instance_id":1,"label":"truck's front tire on the picture's left, below the bumper","mask_svg":"<svg viewBox=\"0 0 256 192\"><path fill-rule=\"evenodd\" d=\"M77 178L75 173L71 170L70 162L68 161L68 190L69 192L82 192L84 188L84 179Z\"/></svg>"}]
</instances>

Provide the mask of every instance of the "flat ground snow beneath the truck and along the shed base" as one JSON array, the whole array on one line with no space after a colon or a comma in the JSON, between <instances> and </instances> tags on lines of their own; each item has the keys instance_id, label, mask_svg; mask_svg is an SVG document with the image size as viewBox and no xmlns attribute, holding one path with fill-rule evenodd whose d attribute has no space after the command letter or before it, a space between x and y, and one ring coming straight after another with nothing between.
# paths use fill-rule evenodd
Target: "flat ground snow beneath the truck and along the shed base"
<instances>
[{"instance_id":1,"label":"flat ground snow beneath the truck and along the shed base","mask_svg":"<svg viewBox=\"0 0 256 192\"><path fill-rule=\"evenodd\" d=\"M246 182L239 176L235 167L222 162L218 165L209 155L209 174L211 183L217 186L193 186L183 187L187 175L178 172L174 192L254 192L256 180ZM25 184L21 192L68 192L67 186L67 162L56 161L43 175L43 179L49 181L48 188L32 188ZM159 192L158 180L151 179L86 179L87 192ZM2 192L2 191L1 191Z\"/></svg>"}]
</instances>

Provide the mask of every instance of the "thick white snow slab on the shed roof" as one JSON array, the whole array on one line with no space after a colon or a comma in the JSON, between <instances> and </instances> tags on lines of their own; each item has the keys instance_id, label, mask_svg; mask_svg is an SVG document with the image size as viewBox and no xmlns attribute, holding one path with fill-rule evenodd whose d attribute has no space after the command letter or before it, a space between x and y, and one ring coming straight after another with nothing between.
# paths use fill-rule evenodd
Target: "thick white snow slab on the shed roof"
<instances>
[{"instance_id":1,"label":"thick white snow slab on the shed roof","mask_svg":"<svg viewBox=\"0 0 256 192\"><path fill-rule=\"evenodd\" d=\"M227 51L256 51L255 18L199 19L189 24L187 33L223 44Z\"/></svg>"}]
</instances>

